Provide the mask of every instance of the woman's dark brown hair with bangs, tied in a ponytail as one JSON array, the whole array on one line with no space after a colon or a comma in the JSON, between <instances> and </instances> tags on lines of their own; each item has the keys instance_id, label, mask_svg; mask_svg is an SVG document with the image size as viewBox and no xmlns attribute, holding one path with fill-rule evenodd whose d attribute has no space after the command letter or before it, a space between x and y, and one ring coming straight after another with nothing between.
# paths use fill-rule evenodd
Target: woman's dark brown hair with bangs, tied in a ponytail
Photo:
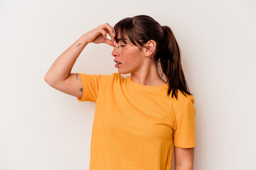
<instances>
[{"instance_id":1,"label":"woman's dark brown hair with bangs, tied in a ponytail","mask_svg":"<svg viewBox=\"0 0 256 170\"><path fill-rule=\"evenodd\" d=\"M181 51L178 42L169 26L161 26L150 16L139 15L124 18L115 24L114 30L119 35L119 40L127 44L125 37L132 42L133 45L142 50L143 45L149 40L156 42L156 50L154 52L153 61L160 62L161 69L166 76L169 89L167 96L176 97L178 99L178 89L182 94L191 95L185 76L181 67ZM117 36L115 37L117 40ZM161 76L162 77L162 76Z\"/></svg>"}]
</instances>

